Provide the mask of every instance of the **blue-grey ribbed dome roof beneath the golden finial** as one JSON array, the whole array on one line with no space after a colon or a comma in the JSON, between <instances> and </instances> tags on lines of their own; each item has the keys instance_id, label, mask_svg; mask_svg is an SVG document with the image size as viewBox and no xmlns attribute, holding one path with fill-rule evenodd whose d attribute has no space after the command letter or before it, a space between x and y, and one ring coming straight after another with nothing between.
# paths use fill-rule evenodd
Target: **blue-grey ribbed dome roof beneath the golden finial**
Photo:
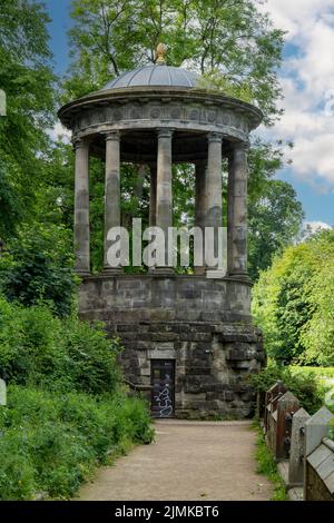
<instances>
[{"instance_id":1,"label":"blue-grey ribbed dome roof beneath the golden finial","mask_svg":"<svg viewBox=\"0 0 334 523\"><path fill-rule=\"evenodd\" d=\"M125 89L128 87L179 87L194 88L199 75L179 67L155 63L132 71L126 71L106 85L102 90Z\"/></svg>"}]
</instances>

